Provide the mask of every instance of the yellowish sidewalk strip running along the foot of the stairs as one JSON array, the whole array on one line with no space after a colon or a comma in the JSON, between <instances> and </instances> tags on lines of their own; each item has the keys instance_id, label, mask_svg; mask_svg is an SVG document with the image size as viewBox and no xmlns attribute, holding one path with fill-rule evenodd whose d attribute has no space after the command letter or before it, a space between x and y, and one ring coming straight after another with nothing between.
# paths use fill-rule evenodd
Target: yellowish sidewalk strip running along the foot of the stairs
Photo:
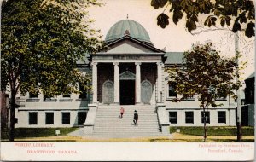
<instances>
[{"instance_id":1,"label":"yellowish sidewalk strip running along the foot of the stairs","mask_svg":"<svg viewBox=\"0 0 256 162\"><path fill-rule=\"evenodd\" d=\"M79 133L77 130L71 134ZM254 136L243 136L246 142L253 142ZM169 136L148 136L131 138L109 138L93 136L47 136L15 139L19 142L203 142L203 136L189 136L173 133ZM207 142L236 142L236 136L207 136Z\"/></svg>"}]
</instances>

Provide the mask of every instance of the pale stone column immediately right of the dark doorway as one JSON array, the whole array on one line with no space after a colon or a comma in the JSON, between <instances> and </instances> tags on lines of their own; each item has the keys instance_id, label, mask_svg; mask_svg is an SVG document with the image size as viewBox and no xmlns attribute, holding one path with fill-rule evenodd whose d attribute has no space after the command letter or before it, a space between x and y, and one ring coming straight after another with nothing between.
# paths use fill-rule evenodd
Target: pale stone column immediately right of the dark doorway
<instances>
[{"instance_id":1,"label":"pale stone column immediately right of the dark doorway","mask_svg":"<svg viewBox=\"0 0 256 162\"><path fill-rule=\"evenodd\" d=\"M141 62L136 62L136 104L141 103Z\"/></svg>"}]
</instances>

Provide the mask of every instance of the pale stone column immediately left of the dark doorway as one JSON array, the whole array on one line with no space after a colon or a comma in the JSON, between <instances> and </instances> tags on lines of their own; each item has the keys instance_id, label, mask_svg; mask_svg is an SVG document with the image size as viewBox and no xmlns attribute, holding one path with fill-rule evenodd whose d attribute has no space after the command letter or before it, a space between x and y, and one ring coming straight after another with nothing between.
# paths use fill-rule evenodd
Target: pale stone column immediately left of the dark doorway
<instances>
[{"instance_id":1,"label":"pale stone column immediately left of the dark doorway","mask_svg":"<svg viewBox=\"0 0 256 162\"><path fill-rule=\"evenodd\" d=\"M119 104L119 62L114 62L114 92L113 92L113 102Z\"/></svg>"}]
</instances>

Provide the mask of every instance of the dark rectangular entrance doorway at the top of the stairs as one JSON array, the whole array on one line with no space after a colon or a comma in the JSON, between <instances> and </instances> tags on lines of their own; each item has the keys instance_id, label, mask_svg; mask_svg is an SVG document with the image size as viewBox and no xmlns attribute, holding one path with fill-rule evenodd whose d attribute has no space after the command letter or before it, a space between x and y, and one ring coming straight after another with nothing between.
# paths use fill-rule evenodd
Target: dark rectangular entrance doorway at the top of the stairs
<instances>
[{"instance_id":1,"label":"dark rectangular entrance doorway at the top of the stairs","mask_svg":"<svg viewBox=\"0 0 256 162\"><path fill-rule=\"evenodd\" d=\"M135 104L135 80L120 80L120 105Z\"/></svg>"}]
</instances>

